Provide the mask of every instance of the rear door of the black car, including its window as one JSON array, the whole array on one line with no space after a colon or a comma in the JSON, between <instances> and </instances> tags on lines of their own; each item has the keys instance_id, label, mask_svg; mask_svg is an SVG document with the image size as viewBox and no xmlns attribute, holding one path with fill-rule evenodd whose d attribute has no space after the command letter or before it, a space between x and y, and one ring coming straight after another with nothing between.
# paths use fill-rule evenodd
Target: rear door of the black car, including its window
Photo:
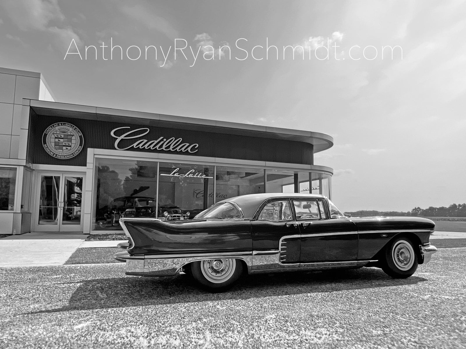
<instances>
[{"instance_id":1,"label":"rear door of the black car, including its window","mask_svg":"<svg viewBox=\"0 0 466 349\"><path fill-rule=\"evenodd\" d=\"M280 250L281 263L298 265L301 235L290 200L275 199L265 202L251 225L254 251Z\"/></svg>"}]
</instances>

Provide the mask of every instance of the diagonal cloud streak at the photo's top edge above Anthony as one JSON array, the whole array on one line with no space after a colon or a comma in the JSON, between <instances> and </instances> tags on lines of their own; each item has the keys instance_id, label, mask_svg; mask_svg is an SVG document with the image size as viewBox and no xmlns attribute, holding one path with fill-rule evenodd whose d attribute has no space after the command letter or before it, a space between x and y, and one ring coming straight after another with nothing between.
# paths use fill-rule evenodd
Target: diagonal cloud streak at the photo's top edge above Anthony
<instances>
[{"instance_id":1,"label":"diagonal cloud streak at the photo's top edge above Anthony","mask_svg":"<svg viewBox=\"0 0 466 349\"><path fill-rule=\"evenodd\" d=\"M157 16L145 6L139 4L128 5L128 2L125 2L124 5L123 3L119 3L119 9L138 23L142 23L145 27L165 34L170 40L175 40L179 37L178 31L168 20Z\"/></svg>"}]
</instances>

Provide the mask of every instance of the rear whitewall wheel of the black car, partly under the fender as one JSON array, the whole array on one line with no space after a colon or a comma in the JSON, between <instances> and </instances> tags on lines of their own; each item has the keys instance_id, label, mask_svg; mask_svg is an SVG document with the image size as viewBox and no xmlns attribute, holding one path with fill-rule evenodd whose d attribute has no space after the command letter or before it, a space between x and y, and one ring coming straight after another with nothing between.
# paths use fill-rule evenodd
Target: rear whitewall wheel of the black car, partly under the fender
<instances>
[{"instance_id":1,"label":"rear whitewall wheel of the black car, partly under the fender","mask_svg":"<svg viewBox=\"0 0 466 349\"><path fill-rule=\"evenodd\" d=\"M222 258L193 262L191 273L194 279L212 292L229 289L243 272L243 264L237 259Z\"/></svg>"}]
</instances>

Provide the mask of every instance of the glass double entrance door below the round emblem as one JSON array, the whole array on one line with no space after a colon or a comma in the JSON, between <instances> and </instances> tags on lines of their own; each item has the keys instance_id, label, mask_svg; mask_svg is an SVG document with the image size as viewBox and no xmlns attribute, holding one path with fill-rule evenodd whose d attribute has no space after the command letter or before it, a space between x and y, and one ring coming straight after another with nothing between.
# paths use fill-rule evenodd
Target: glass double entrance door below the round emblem
<instances>
[{"instance_id":1,"label":"glass double entrance door below the round emblem","mask_svg":"<svg viewBox=\"0 0 466 349\"><path fill-rule=\"evenodd\" d=\"M82 231L82 174L39 173L34 231Z\"/></svg>"}]
</instances>

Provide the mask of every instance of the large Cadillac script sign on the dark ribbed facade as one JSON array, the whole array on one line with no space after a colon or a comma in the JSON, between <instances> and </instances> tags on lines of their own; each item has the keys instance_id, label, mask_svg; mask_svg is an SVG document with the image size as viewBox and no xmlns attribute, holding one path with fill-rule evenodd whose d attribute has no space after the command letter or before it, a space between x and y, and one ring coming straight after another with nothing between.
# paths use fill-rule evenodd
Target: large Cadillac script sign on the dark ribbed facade
<instances>
[{"instance_id":1,"label":"large Cadillac script sign on the dark ribbed facade","mask_svg":"<svg viewBox=\"0 0 466 349\"><path fill-rule=\"evenodd\" d=\"M171 138L164 138L163 136L159 137L157 140L146 140L146 139L138 139L133 144L128 147L120 148L120 142L123 140L128 139L137 139L144 137L146 134L150 132L149 128L137 128L135 130L130 130L125 132L121 135L116 135L115 133L119 130L123 130L126 128L130 128L129 126L114 128L110 134L112 137L115 137L117 140L115 141L115 149L117 150L127 150L130 148L135 149L151 149L151 150L165 150L165 151L172 151L172 152L188 152L188 153L196 153L198 151L199 144L193 143L182 143L183 139L175 137Z\"/></svg>"}]
</instances>

